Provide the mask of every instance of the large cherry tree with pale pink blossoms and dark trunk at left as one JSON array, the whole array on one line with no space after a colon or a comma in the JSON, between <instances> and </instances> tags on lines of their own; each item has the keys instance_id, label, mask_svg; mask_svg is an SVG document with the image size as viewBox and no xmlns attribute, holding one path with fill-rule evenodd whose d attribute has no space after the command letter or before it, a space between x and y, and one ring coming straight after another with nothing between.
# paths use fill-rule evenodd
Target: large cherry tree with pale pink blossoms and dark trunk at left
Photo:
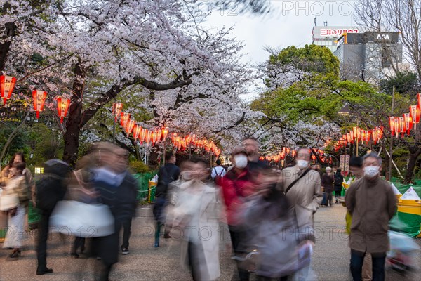
<instances>
[{"instance_id":1,"label":"large cherry tree with pale pink blossoms and dark trunk at left","mask_svg":"<svg viewBox=\"0 0 421 281\"><path fill-rule=\"evenodd\" d=\"M143 103L133 112L147 110L149 123L180 131L196 123L217 135L253 118L239 99L250 81L241 44L229 30L204 30L185 1L17 0L2 8L1 70L48 91L51 112L55 96L72 100L62 127L71 164L81 130L125 93Z\"/></svg>"}]
</instances>

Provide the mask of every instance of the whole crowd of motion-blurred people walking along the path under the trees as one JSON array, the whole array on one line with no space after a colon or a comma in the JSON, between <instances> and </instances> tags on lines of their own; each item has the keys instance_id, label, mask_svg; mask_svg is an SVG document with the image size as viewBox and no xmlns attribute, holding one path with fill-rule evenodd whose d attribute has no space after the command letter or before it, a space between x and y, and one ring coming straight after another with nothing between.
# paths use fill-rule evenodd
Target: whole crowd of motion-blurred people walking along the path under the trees
<instances>
[{"instance_id":1,"label":"whole crowd of motion-blurred people walking along the path under the trees","mask_svg":"<svg viewBox=\"0 0 421 281\"><path fill-rule=\"evenodd\" d=\"M396 211L396 199L389 183L379 176L382 162L375 153L352 157L349 170L354 179L345 198L341 170L326 167L322 173L320 166L310 166L309 148L298 149L294 164L284 169L260 160L255 138L247 138L232 151L229 169L219 159L214 167L195 158L176 165L178 159L172 153L165 159L155 192L153 246L160 247L161 236L169 239L175 231L180 233L180 259L193 280L220 277L221 228L229 231L237 280L250 280L250 273L258 280L314 280L314 214L320 206L331 207L333 195L335 203L347 207L354 280L385 279L387 224ZM111 211L111 233L97 233L89 243L90 254L100 263L100 280L108 280L119 253L129 254L137 182L128 171L127 150L97 143L74 171L65 162L50 160L36 184L25 169L23 155L16 155L2 171L2 179L2 196L15 193L18 198L7 210L9 226L18 229L15 235L24 231L31 197L41 211L36 274L53 272L47 267L46 244L51 217L60 211L57 206L62 200L101 204ZM78 211L81 220L89 216L82 207L74 210ZM88 246L86 236L74 236L71 255L78 258ZM12 249L11 259L18 258L20 238L6 237L4 247Z\"/></svg>"}]
</instances>

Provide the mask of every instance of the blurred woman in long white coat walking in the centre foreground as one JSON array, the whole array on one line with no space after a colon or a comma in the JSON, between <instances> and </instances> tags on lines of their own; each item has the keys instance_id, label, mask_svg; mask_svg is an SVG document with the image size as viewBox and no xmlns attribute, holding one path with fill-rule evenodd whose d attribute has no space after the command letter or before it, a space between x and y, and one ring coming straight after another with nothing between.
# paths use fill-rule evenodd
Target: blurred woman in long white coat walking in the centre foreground
<instances>
[{"instance_id":1,"label":"blurred woman in long white coat walking in the centre foreground","mask_svg":"<svg viewBox=\"0 0 421 281\"><path fill-rule=\"evenodd\" d=\"M168 210L173 233L180 233L182 266L192 271L194 281L220 276L220 195L209 178L208 164L194 161L192 179L180 185L177 202ZM177 235L173 235L175 237Z\"/></svg>"}]
</instances>

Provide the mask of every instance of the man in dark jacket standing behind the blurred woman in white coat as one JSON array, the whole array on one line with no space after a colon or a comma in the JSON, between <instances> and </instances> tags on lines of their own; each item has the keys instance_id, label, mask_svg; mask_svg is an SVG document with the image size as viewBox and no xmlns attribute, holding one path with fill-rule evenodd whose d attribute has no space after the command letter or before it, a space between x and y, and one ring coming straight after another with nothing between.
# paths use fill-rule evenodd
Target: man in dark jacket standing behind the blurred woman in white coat
<instances>
[{"instance_id":1,"label":"man in dark jacket standing behind the blurred woman in white coat","mask_svg":"<svg viewBox=\"0 0 421 281\"><path fill-rule=\"evenodd\" d=\"M180 176L180 169L175 166L175 155L168 153L165 157L166 164L161 166L158 172L158 184L156 185L154 217L156 220L155 229L155 244L154 247L159 247L159 235L161 233L161 226L164 224L163 209L167 202L168 185L177 180ZM164 238L171 238L169 229L165 230Z\"/></svg>"}]
</instances>

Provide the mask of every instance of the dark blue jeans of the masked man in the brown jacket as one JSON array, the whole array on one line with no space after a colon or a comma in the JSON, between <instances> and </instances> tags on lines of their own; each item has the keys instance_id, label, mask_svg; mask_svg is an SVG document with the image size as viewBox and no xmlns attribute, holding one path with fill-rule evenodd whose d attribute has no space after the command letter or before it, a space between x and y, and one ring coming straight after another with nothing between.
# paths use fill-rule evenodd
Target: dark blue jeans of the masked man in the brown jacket
<instances>
[{"instance_id":1,"label":"dark blue jeans of the masked man in the brown jacket","mask_svg":"<svg viewBox=\"0 0 421 281\"><path fill-rule=\"evenodd\" d=\"M351 274L354 281L362 280L361 275L365 255L365 253L360 251L351 250ZM373 281L384 281L386 253L373 253L371 258L373 261Z\"/></svg>"}]
</instances>

